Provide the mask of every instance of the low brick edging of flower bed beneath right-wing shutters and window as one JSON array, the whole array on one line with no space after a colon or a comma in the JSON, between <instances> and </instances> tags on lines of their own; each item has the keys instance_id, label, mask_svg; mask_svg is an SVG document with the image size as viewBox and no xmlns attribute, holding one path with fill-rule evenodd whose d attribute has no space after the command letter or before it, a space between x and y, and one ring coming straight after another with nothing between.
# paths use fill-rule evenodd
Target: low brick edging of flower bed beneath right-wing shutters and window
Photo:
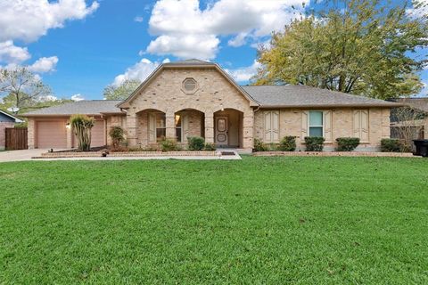
<instances>
[{"instance_id":1,"label":"low brick edging of flower bed beneath right-wing shutters and window","mask_svg":"<svg viewBox=\"0 0 428 285\"><path fill-rule=\"evenodd\" d=\"M252 154L256 157L387 157L419 158L411 152L372 152L372 151L259 151Z\"/></svg>"}]
</instances>

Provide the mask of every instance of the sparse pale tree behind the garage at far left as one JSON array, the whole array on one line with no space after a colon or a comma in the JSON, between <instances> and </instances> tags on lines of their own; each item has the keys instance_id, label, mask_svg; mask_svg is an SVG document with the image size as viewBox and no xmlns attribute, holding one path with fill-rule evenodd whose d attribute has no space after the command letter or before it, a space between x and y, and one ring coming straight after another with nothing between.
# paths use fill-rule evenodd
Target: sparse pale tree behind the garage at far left
<instances>
[{"instance_id":1,"label":"sparse pale tree behind the garage at far left","mask_svg":"<svg viewBox=\"0 0 428 285\"><path fill-rule=\"evenodd\" d=\"M51 94L51 88L25 67L0 69L0 97L12 107L29 107Z\"/></svg>"}]
</instances>

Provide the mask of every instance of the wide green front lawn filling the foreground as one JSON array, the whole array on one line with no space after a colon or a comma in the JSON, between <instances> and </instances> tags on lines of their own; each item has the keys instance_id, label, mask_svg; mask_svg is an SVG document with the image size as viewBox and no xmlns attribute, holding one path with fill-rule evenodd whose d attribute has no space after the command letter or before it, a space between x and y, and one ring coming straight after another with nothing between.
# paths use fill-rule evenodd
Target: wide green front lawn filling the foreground
<instances>
[{"instance_id":1,"label":"wide green front lawn filling the foreground","mask_svg":"<svg viewBox=\"0 0 428 285\"><path fill-rule=\"evenodd\" d=\"M428 159L0 164L0 284L428 283Z\"/></svg>"}]
</instances>

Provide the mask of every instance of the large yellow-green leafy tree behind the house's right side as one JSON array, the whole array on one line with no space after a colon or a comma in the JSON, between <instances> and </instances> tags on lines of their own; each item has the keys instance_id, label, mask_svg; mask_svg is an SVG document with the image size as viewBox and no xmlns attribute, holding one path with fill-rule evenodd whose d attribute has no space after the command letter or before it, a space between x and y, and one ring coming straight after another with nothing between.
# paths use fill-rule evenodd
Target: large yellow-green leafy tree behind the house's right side
<instances>
[{"instance_id":1,"label":"large yellow-green leafy tree behind the house's right side","mask_svg":"<svg viewBox=\"0 0 428 285\"><path fill-rule=\"evenodd\" d=\"M406 1L405 1L406 2ZM311 85L386 99L418 93L428 45L426 15L380 0L331 1L328 11L294 20L260 46L256 85Z\"/></svg>"}]
</instances>

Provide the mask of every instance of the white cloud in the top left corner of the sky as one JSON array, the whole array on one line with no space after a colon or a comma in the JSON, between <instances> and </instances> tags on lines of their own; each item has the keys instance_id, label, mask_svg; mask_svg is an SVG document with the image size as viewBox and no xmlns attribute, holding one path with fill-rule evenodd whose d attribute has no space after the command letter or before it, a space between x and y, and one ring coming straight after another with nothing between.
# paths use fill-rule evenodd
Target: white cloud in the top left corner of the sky
<instances>
[{"instance_id":1,"label":"white cloud in the top left corner of the sky","mask_svg":"<svg viewBox=\"0 0 428 285\"><path fill-rule=\"evenodd\" d=\"M0 1L0 41L36 41L49 28L62 28L67 20L84 19L98 6L98 2L86 6L85 0Z\"/></svg>"}]
</instances>

